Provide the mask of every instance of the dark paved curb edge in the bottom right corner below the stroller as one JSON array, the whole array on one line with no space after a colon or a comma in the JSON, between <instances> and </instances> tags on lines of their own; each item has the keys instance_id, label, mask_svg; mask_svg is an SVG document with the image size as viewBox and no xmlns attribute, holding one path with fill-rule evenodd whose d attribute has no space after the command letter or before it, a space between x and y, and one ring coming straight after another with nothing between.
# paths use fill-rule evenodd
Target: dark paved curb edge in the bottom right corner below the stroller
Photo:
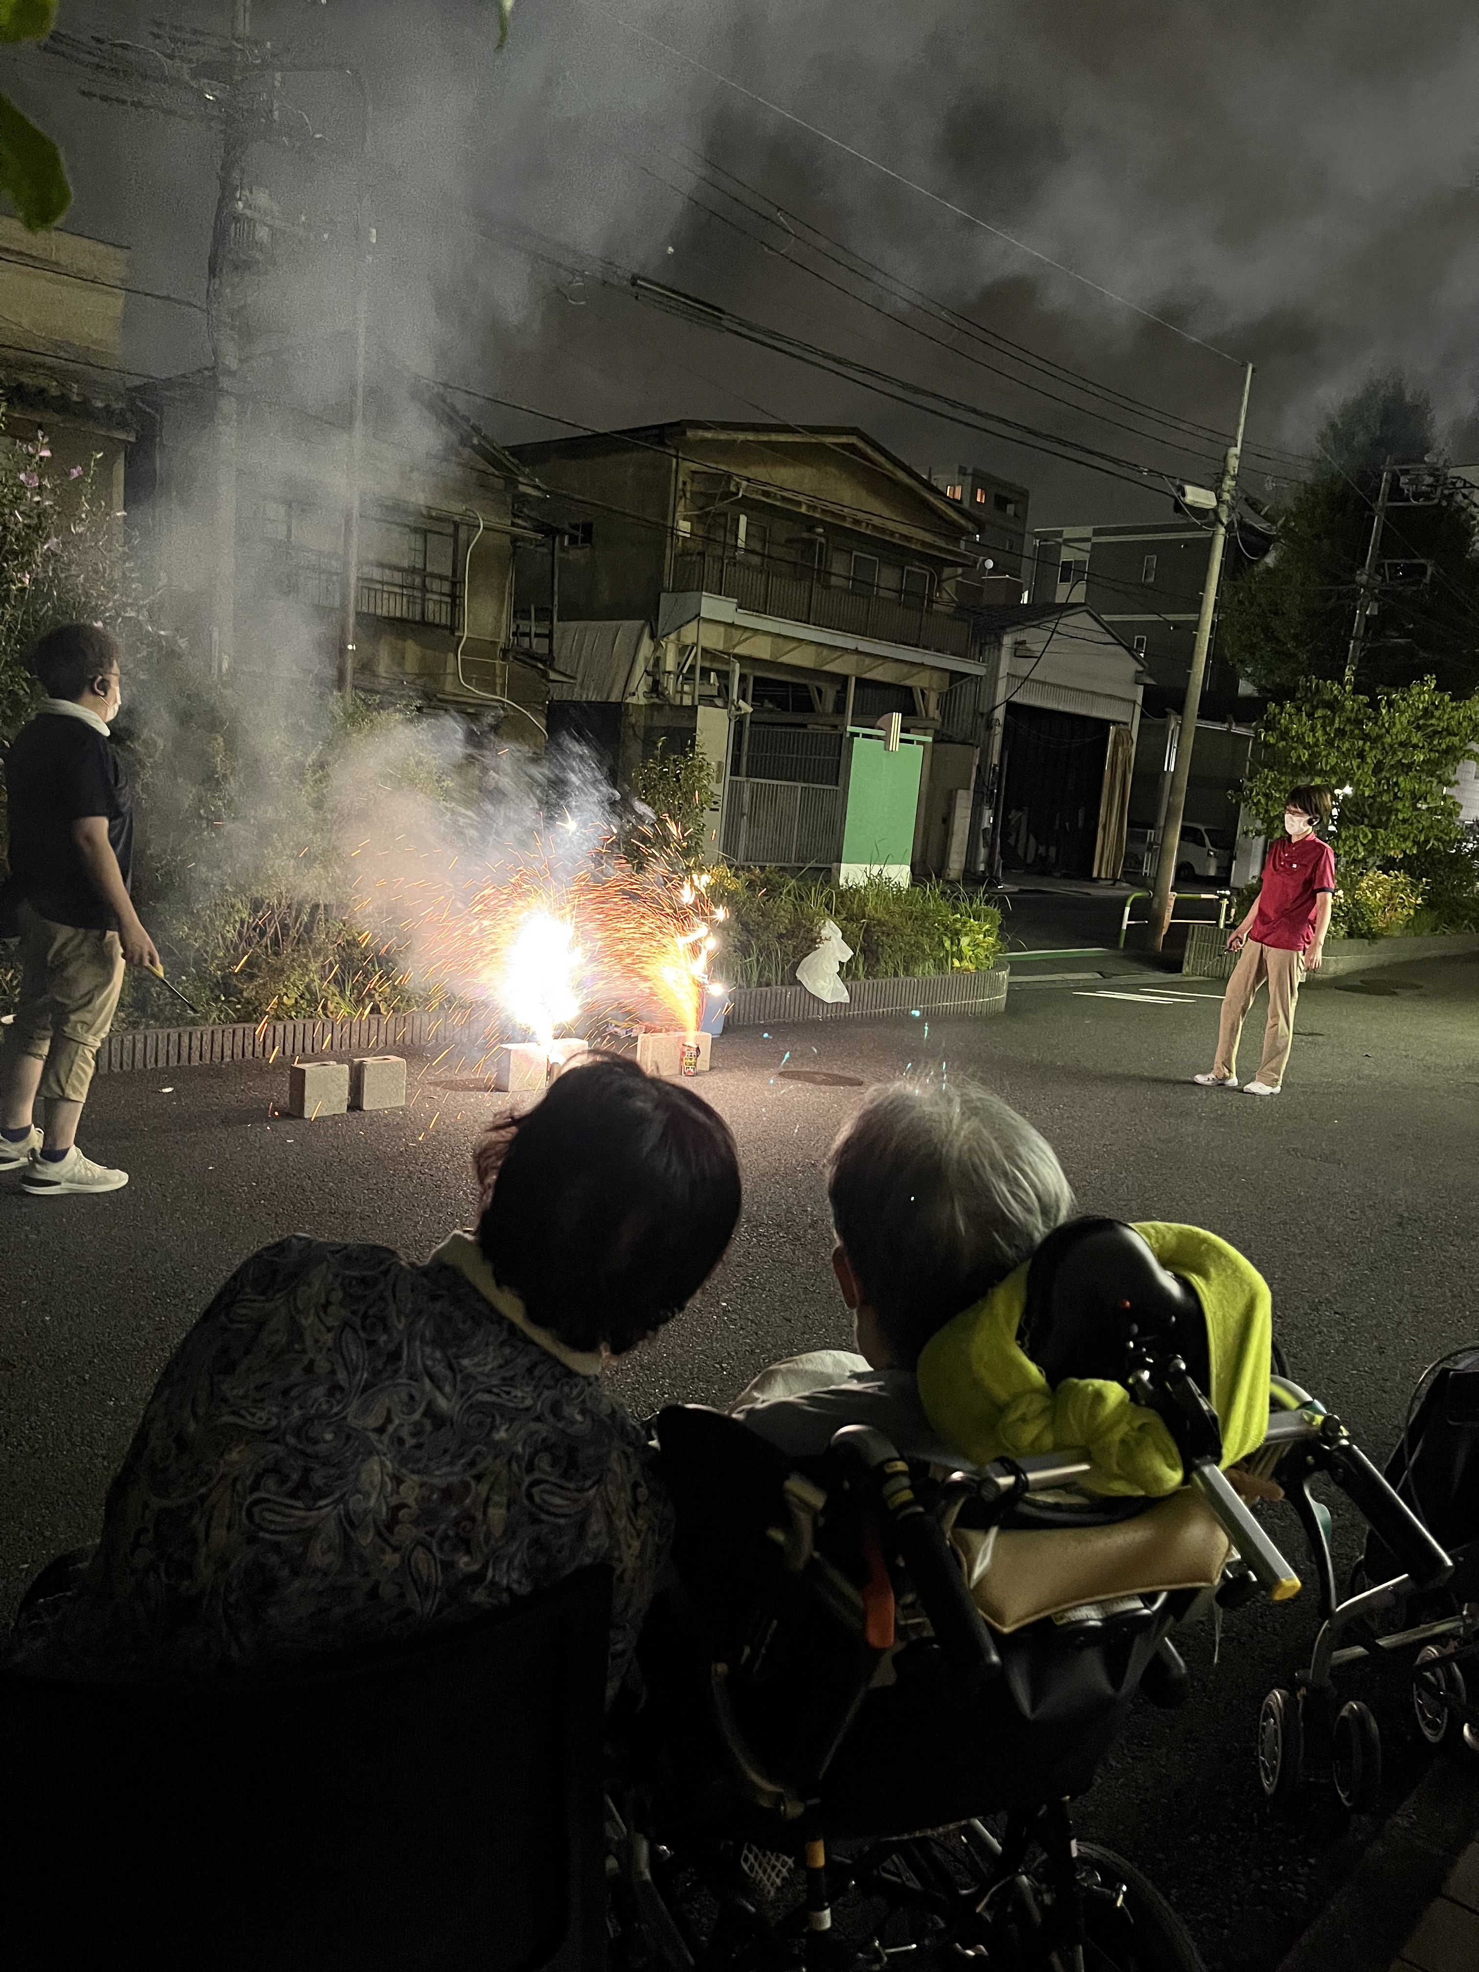
<instances>
[{"instance_id":1,"label":"dark paved curb edge in the bottom right corner below the stroller","mask_svg":"<svg viewBox=\"0 0 1479 1972\"><path fill-rule=\"evenodd\" d=\"M1388 1972L1479 1830L1479 1759L1440 1757L1278 1972Z\"/></svg>"}]
</instances>

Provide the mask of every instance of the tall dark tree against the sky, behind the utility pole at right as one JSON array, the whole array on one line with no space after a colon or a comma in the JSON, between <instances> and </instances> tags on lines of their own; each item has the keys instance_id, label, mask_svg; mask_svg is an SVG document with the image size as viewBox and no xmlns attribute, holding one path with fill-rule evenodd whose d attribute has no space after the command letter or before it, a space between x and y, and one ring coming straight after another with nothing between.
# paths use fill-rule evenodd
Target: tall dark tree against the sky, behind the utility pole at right
<instances>
[{"instance_id":1,"label":"tall dark tree against the sky, behind the utility pole at right","mask_svg":"<svg viewBox=\"0 0 1479 1972\"><path fill-rule=\"evenodd\" d=\"M1432 450L1428 400L1400 377L1376 377L1319 434L1323 469L1278 515L1270 554L1227 592L1219 651L1272 698L1305 678L1343 678L1386 458L1414 463ZM1420 564L1432 564L1424 574ZM1357 684L1365 690L1434 676L1457 698L1479 688L1479 556L1469 507L1453 493L1434 507L1396 507L1382 530L1378 588Z\"/></svg>"}]
</instances>

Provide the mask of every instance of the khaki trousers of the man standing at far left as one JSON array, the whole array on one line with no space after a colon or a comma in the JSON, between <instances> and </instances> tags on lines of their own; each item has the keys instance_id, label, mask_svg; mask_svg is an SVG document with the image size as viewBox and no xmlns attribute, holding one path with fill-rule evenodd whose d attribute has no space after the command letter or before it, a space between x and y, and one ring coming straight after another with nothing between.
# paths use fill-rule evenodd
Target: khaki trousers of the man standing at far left
<instances>
[{"instance_id":1,"label":"khaki trousers of the man standing at far left","mask_svg":"<svg viewBox=\"0 0 1479 1972\"><path fill-rule=\"evenodd\" d=\"M122 992L118 933L53 925L22 903L20 962L20 1004L6 1031L6 1055L45 1063L43 1096L83 1102Z\"/></svg>"}]
</instances>

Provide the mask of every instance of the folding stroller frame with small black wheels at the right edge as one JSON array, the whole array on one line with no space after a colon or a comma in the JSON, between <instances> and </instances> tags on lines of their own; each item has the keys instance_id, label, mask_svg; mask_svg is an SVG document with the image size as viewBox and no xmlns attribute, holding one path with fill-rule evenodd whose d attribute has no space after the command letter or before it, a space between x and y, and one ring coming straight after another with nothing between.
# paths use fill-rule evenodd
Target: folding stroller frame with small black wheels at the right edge
<instances>
[{"instance_id":1,"label":"folding stroller frame with small black wheels at the right edge","mask_svg":"<svg viewBox=\"0 0 1479 1972\"><path fill-rule=\"evenodd\" d=\"M1294 1507L1309 1548L1321 1623L1309 1662L1296 1672L1294 1688L1274 1686L1264 1696L1258 1714L1258 1781L1272 1804L1288 1804L1319 1763L1327 1769L1341 1806L1363 1814L1376 1806L1380 1795L1380 1729L1363 1700L1339 1704L1335 1674L1351 1664L1416 1651L1412 1676L1418 1729L1436 1745L1457 1718L1473 1745L1479 1708L1467 1704L1455 1658L1473 1655L1479 1645L1479 1601L1465 1601L1451 1615L1386 1635L1359 1635L1376 1617L1404 1609L1412 1595L1444 1587L1453 1562L1386 1479L1365 1455L1355 1453L1345 1428L1315 1396L1288 1376L1272 1376L1270 1392L1278 1410L1270 1416L1264 1449L1276 1453L1274 1477ZM1341 1597L1329 1513L1309 1491L1321 1471L1351 1495L1398 1560L1406 1560L1404 1574ZM1380 1493L1373 1489L1373 1479L1380 1483ZM1392 1507L1400 1513L1394 1514ZM1353 1641L1343 1643L1343 1637Z\"/></svg>"}]
</instances>

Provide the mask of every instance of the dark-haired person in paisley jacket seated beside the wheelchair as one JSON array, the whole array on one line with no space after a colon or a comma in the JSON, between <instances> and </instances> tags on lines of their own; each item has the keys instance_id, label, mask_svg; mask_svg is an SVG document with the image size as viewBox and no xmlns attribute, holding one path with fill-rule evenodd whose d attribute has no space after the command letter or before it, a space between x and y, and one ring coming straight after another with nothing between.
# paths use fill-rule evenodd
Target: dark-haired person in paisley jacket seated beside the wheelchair
<instances>
[{"instance_id":1,"label":"dark-haired person in paisley jacket seated beside the wheelchair","mask_svg":"<svg viewBox=\"0 0 1479 1972\"><path fill-rule=\"evenodd\" d=\"M477 1154L483 1211L416 1266L284 1238L176 1349L97 1552L22 1603L20 1670L215 1670L456 1623L615 1572L611 1692L670 1509L601 1384L718 1264L728 1124L598 1055Z\"/></svg>"}]
</instances>

